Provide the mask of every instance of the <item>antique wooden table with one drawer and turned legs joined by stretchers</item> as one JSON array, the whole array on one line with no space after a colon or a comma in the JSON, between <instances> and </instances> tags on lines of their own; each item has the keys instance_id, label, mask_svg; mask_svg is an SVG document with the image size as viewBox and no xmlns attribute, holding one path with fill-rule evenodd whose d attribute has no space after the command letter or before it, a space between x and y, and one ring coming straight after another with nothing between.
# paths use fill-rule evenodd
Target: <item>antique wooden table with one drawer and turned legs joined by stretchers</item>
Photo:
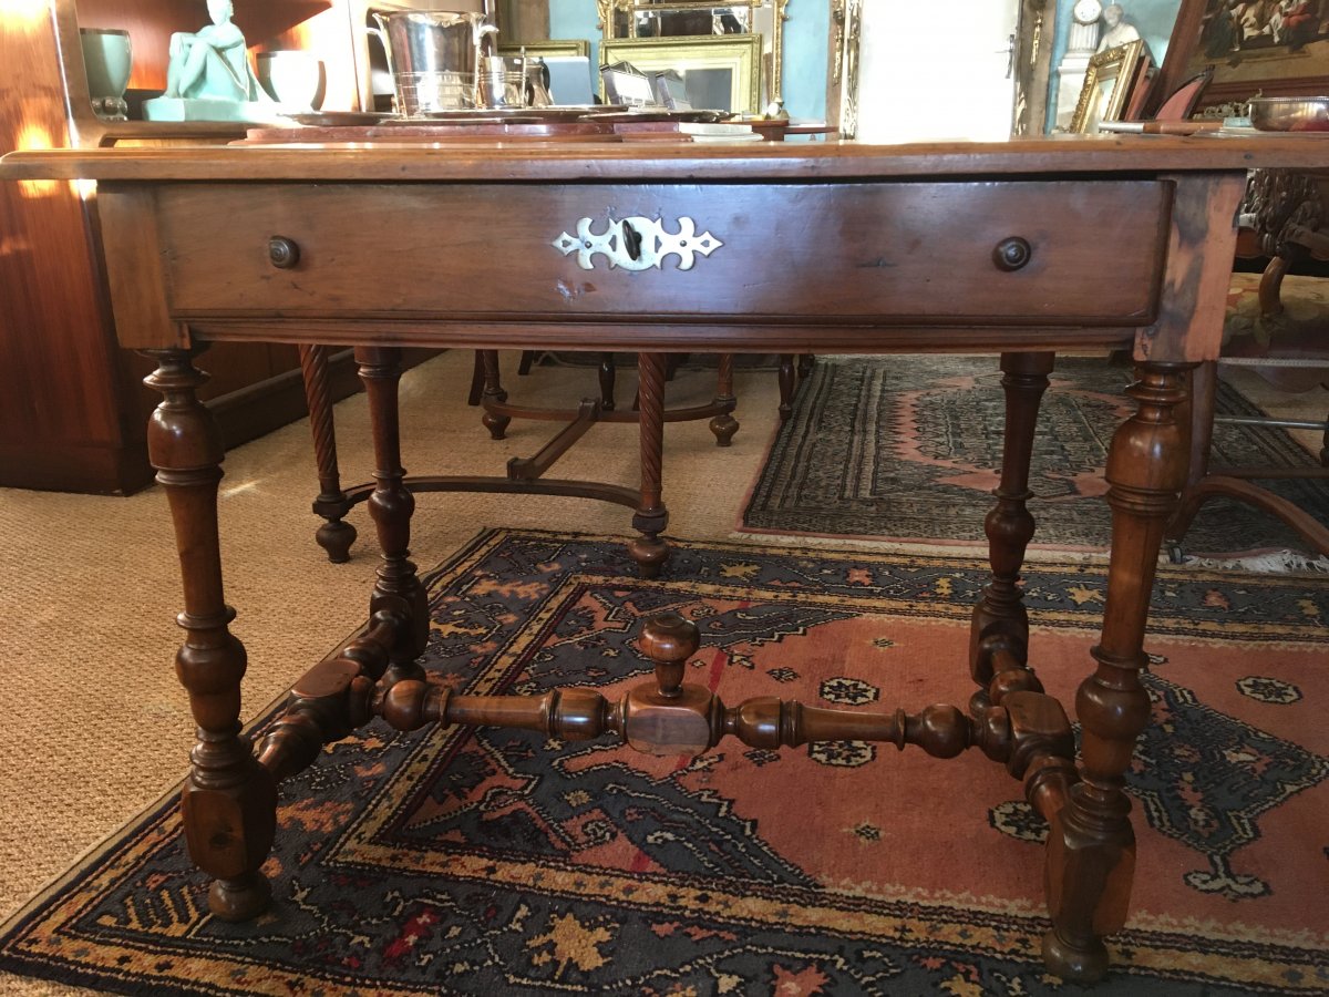
<instances>
[{"instance_id":1,"label":"antique wooden table with one drawer and turned legs joined by stretchers","mask_svg":"<svg viewBox=\"0 0 1329 997\"><path fill-rule=\"evenodd\" d=\"M1255 166L1309 167L1314 141L1118 137L1001 145L852 144L198 148L15 153L8 179L98 181L100 237L122 346L154 356L150 451L174 517L187 635L177 669L198 722L183 791L211 909L270 903L262 865L276 783L375 714L617 732L655 752L732 735L776 747L878 739L1006 764L1051 823L1047 965L1094 980L1134 871L1123 772L1148 720L1139 681L1164 522L1185 480L1187 372L1217 356L1235 211ZM35 234L40 238L40 234ZM354 344L377 471L383 561L359 635L302 678L255 750L241 735L245 650L229 631L217 485L222 447L198 401L209 340ZM682 683L696 630L643 630L655 681L618 703L448 695L423 681L427 608L409 560L396 423L405 346L623 351L1002 354L1006 449L987 517L991 581L974 610L968 709L917 715L726 707ZM1029 667L1018 589L1033 536L1027 473L1058 348L1130 347L1135 413L1108 459L1112 552L1100 643L1070 724ZM649 388L649 386L647 386ZM642 423L643 448L659 425ZM637 545L662 549L658 481ZM682 524L686 532L687 525ZM981 863L974 864L981 875Z\"/></svg>"}]
</instances>

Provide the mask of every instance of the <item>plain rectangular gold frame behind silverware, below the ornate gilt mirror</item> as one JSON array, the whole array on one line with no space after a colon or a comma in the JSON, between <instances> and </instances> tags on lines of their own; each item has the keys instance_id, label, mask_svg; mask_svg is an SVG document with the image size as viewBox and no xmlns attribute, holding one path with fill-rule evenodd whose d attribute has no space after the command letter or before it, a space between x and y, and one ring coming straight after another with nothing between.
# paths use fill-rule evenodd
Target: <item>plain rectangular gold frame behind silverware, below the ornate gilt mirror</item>
<instances>
[{"instance_id":1,"label":"plain rectangular gold frame behind silverware, below the ornate gilt mirror","mask_svg":"<svg viewBox=\"0 0 1329 997\"><path fill-rule=\"evenodd\" d=\"M647 74L675 70L694 108L743 114L760 108L760 35L605 39L599 57L605 65L630 62Z\"/></svg>"}]
</instances>

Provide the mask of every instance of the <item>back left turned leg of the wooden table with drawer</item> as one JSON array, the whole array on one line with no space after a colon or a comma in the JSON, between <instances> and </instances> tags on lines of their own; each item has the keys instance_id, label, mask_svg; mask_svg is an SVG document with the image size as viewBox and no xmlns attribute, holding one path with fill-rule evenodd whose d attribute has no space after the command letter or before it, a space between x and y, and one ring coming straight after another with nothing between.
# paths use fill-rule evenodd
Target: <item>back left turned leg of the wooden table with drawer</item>
<instances>
[{"instance_id":1,"label":"back left turned leg of the wooden table with drawer","mask_svg":"<svg viewBox=\"0 0 1329 997\"><path fill-rule=\"evenodd\" d=\"M424 670L416 662L424 653L429 634L429 608L424 586L411 561L411 514L415 496L404 484L401 467L401 429L397 411L397 386L401 380L401 350L397 347L356 347L360 379L369 396L369 419L373 427L373 495L369 517L379 533L383 564L379 565L369 615L396 613L408 621L400 627L388 653L387 681L420 678Z\"/></svg>"}]
</instances>

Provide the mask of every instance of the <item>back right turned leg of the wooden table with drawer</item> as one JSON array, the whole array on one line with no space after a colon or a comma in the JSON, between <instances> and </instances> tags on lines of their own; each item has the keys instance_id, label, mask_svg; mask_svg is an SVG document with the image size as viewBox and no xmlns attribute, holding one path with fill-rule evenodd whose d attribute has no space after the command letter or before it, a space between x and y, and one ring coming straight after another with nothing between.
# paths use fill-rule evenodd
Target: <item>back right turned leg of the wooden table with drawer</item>
<instances>
[{"instance_id":1,"label":"back right turned leg of the wooden table with drawer","mask_svg":"<svg viewBox=\"0 0 1329 997\"><path fill-rule=\"evenodd\" d=\"M1002 354L1001 386L1006 393L1006 429L1002 444L1001 484L993 495L997 505L983 520L991 580L974 606L969 629L969 674L978 691L969 701L979 715L1017 689L1043 691L1029 659L1029 613L1021 600L1019 569L1034 536L1029 512L1029 465L1034 455L1038 405L1047 389L1055 354Z\"/></svg>"}]
</instances>

